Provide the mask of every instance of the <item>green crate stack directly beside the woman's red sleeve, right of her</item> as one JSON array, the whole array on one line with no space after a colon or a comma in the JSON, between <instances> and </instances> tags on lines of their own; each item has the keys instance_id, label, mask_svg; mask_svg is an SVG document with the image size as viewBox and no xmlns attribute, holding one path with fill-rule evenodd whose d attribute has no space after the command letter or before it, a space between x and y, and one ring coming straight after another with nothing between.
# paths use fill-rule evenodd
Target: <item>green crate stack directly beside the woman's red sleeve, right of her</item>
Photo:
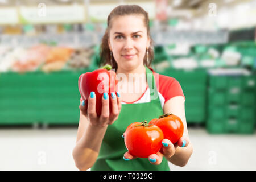
<instances>
[{"instance_id":1,"label":"green crate stack directly beside the woman's red sleeve, right of her","mask_svg":"<svg viewBox=\"0 0 256 182\"><path fill-rule=\"evenodd\" d=\"M203 124L206 119L207 71L204 69L179 70L166 69L159 72L162 75L174 77L183 89L185 114L187 123Z\"/></svg>"}]
</instances>

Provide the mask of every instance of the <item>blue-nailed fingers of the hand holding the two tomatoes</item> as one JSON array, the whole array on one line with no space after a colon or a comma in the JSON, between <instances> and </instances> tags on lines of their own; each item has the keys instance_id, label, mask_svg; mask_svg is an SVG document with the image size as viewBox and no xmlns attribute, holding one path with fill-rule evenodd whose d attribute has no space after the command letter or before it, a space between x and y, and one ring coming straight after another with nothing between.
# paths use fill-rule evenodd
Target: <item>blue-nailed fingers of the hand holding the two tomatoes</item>
<instances>
[{"instance_id":1,"label":"blue-nailed fingers of the hand holding the two tomatoes","mask_svg":"<svg viewBox=\"0 0 256 182\"><path fill-rule=\"evenodd\" d=\"M123 136L125 135L125 133L123 133ZM151 164L155 164L155 165L159 165L162 163L163 160L163 156L168 158L171 158L176 150L177 147L187 147L189 144L189 139L186 137L181 137L179 139L179 141L175 144L172 144L170 140L168 139L163 139L162 140L162 148L160 149L159 152L157 152L156 154L151 154L150 156L148 156L148 160ZM131 159L136 159L135 156L131 155L129 153L129 151L125 152L125 154L123 155L123 159L124 160L131 160Z\"/></svg>"}]
</instances>

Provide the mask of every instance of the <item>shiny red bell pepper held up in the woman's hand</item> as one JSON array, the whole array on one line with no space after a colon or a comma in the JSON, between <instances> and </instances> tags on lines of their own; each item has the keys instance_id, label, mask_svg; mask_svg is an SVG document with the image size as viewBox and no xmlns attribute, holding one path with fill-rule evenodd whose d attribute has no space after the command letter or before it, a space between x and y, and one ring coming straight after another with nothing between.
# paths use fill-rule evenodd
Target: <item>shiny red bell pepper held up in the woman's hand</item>
<instances>
[{"instance_id":1,"label":"shiny red bell pepper held up in the woman's hand","mask_svg":"<svg viewBox=\"0 0 256 182\"><path fill-rule=\"evenodd\" d=\"M90 92L95 92L96 95L96 113L101 115L101 100L103 93L108 93L109 98L111 93L117 95L117 75L110 70L110 65L105 65L102 68L96 69L93 72L83 73L79 77L79 92L82 100L88 104ZM109 99L109 112L112 112L112 102ZM109 114L110 114L109 113Z\"/></svg>"}]
</instances>

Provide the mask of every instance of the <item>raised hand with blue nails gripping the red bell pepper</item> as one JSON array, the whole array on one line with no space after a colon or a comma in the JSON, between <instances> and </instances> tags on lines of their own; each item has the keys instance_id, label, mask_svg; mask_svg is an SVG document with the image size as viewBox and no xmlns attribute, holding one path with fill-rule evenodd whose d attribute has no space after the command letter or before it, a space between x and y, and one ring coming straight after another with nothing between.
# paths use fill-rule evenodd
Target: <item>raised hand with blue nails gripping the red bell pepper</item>
<instances>
[{"instance_id":1,"label":"raised hand with blue nails gripping the red bell pepper","mask_svg":"<svg viewBox=\"0 0 256 182\"><path fill-rule=\"evenodd\" d=\"M117 92L117 96L113 92L109 98L108 93L104 94L101 98L102 109L100 117L96 113L96 94L91 92L88 101L84 100L80 103L79 109L84 114L91 125L105 127L106 125L112 125L115 120L118 119L118 115L121 111L122 100L120 94ZM109 114L109 102L112 102L112 113Z\"/></svg>"}]
</instances>

